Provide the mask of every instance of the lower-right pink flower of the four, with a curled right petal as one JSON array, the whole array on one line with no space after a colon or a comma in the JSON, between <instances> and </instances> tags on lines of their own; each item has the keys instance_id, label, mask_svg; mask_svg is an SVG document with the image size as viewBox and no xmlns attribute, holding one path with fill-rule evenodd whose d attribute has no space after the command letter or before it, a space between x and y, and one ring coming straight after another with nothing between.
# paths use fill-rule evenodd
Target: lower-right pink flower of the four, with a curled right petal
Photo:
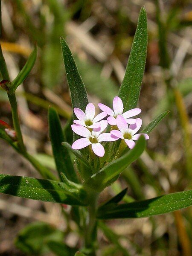
<instances>
[{"instance_id":1,"label":"lower-right pink flower of the four, with a curled right petal","mask_svg":"<svg viewBox=\"0 0 192 256\"><path fill-rule=\"evenodd\" d=\"M129 148L134 148L135 143L134 140L138 140L140 135L142 134L136 134L137 131L139 131L141 125L142 125L142 120L140 118L136 118L136 123L134 125L129 125L125 120L125 118L121 115L118 115L116 118L116 124L117 127L119 128L118 130L112 130L111 134L114 136L125 140L125 143L128 145ZM145 140L149 139L148 134L143 134L145 137Z\"/></svg>"}]
</instances>

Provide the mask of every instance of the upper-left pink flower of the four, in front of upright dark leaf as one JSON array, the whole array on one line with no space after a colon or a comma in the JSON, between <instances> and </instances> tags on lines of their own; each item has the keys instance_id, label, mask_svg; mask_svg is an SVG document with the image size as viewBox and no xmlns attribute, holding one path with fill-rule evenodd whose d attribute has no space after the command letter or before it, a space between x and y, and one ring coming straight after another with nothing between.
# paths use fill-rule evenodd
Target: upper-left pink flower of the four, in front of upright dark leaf
<instances>
[{"instance_id":1,"label":"upper-left pink flower of the four, in front of upright dark leaf","mask_svg":"<svg viewBox=\"0 0 192 256\"><path fill-rule=\"evenodd\" d=\"M85 113L80 108L74 108L74 113L76 114L79 120L74 120L73 122L77 125L82 125L87 128L99 128L99 121L103 119L105 116L107 116L107 112L102 112L96 117L94 117L95 106L93 105L93 103L87 104Z\"/></svg>"}]
</instances>

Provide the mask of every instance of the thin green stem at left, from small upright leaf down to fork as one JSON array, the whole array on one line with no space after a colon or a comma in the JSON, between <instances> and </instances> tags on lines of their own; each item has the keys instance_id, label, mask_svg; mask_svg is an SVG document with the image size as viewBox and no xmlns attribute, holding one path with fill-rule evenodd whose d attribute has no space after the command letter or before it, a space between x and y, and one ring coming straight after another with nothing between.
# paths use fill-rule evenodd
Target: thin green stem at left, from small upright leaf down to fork
<instances>
[{"instance_id":1,"label":"thin green stem at left, from small upright leaf down to fork","mask_svg":"<svg viewBox=\"0 0 192 256\"><path fill-rule=\"evenodd\" d=\"M23 143L23 137L20 130L20 122L19 122L19 116L17 111L17 101L16 101L15 93L13 94L7 93L7 94L9 97L9 102L12 107L12 119L13 119L14 129L17 133L17 144L18 144L18 147L20 148L20 151L24 153L26 149Z\"/></svg>"}]
</instances>

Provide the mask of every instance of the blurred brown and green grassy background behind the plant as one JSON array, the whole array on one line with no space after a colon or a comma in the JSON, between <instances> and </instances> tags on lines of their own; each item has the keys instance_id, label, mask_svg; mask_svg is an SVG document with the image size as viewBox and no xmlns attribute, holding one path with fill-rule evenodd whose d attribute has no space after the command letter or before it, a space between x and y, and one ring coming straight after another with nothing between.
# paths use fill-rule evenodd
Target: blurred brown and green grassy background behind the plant
<instances>
[{"instance_id":1,"label":"blurred brown and green grassy background behind the plant","mask_svg":"<svg viewBox=\"0 0 192 256\"><path fill-rule=\"evenodd\" d=\"M49 105L57 109L63 126L72 113L60 36L64 36L73 52L90 102L111 105L125 73L143 5L148 15L148 53L139 101L143 127L163 111L170 113L150 134L148 147L140 159L105 189L101 202L125 187L128 187L127 202L192 188L192 3L190 0L2 0L0 41L11 79L25 64L35 42L38 45L35 67L18 87L17 101L27 149L53 171L47 109ZM12 125L9 101L1 89L0 119ZM0 173L39 177L3 140L0 140ZM70 207L64 211L68 215ZM14 245L14 239L33 221L45 221L65 231L69 246L81 245L75 223L63 218L59 205L0 195L0 255L28 255L26 248ZM108 228L101 224L98 231L99 256L192 253L191 208L153 218L107 221L107 224ZM44 255L54 254L46 251Z\"/></svg>"}]
</instances>

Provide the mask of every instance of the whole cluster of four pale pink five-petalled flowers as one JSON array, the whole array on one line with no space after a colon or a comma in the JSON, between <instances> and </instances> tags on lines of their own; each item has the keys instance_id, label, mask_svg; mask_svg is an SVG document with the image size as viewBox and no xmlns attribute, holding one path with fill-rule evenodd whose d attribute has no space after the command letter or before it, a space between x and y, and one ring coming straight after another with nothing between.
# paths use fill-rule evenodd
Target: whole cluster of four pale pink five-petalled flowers
<instances>
[{"instance_id":1,"label":"whole cluster of four pale pink five-petalled flowers","mask_svg":"<svg viewBox=\"0 0 192 256\"><path fill-rule=\"evenodd\" d=\"M91 145L93 152L99 157L103 157L105 154L105 149L101 144L104 141L122 139L129 148L134 148L134 140L138 140L141 135L136 133L142 125L142 120L132 117L141 113L141 109L134 108L123 113L123 103L118 96L113 99L113 110L102 103L98 105L103 112L97 116L95 116L95 106L93 103L87 104L85 113L79 108L74 108L74 113L78 120L74 120L71 128L83 138L76 140L72 148L81 149ZM102 120L107 115L107 120ZM112 125L111 132L103 132L108 124ZM143 135L146 140L149 139L148 134Z\"/></svg>"}]
</instances>

